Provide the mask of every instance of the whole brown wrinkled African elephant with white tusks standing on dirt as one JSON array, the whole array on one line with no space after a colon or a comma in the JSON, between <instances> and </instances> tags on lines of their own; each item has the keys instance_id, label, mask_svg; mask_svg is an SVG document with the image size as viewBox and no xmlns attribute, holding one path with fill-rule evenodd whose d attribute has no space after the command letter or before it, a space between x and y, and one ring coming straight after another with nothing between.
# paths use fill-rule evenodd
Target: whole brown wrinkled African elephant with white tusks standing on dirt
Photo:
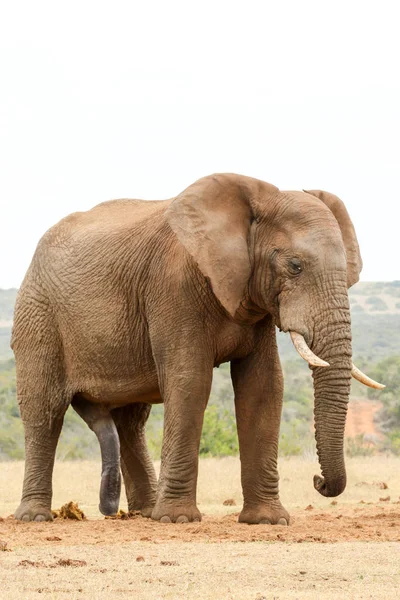
<instances>
[{"instance_id":1,"label":"whole brown wrinkled African elephant with white tusks standing on dirt","mask_svg":"<svg viewBox=\"0 0 400 600\"><path fill-rule=\"evenodd\" d=\"M41 239L15 309L12 346L25 427L22 520L50 520L52 470L72 403L100 441L100 509L200 520L198 450L213 367L231 362L246 523L289 522L279 500L283 382L275 324L312 365L322 475L346 485L343 432L352 374L347 288L361 270L344 204L234 174L172 200L114 200ZM328 366L329 363L329 366ZM358 378L374 385L353 369ZM378 384L376 384L378 385ZM164 402L158 484L144 425Z\"/></svg>"}]
</instances>

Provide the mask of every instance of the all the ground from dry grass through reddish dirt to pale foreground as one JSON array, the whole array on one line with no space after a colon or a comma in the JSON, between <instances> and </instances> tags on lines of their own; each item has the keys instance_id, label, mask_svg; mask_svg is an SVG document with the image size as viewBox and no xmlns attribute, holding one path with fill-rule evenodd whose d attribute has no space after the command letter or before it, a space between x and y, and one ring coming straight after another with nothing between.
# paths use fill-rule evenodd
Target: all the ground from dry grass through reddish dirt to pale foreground
<instances>
[{"instance_id":1,"label":"all the ground from dry grass through reddish dirt to pale foreground","mask_svg":"<svg viewBox=\"0 0 400 600\"><path fill-rule=\"evenodd\" d=\"M0 464L0 598L399 598L400 460L347 462L348 488L336 504L312 488L317 464L282 462L290 527L237 523L236 459L202 461L205 516L180 525L102 519L92 463L59 463L54 480L54 507L77 500L88 520L15 522L7 515L18 503L22 464Z\"/></svg>"}]
</instances>

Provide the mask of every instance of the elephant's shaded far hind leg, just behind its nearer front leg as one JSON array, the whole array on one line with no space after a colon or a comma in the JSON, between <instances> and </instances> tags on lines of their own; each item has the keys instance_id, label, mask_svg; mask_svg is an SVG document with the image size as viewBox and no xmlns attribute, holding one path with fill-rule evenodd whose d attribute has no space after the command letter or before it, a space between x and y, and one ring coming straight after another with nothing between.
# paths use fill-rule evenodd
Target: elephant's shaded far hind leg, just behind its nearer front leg
<instances>
[{"instance_id":1,"label":"elephant's shaded far hind leg, just behind its nearer front leg","mask_svg":"<svg viewBox=\"0 0 400 600\"><path fill-rule=\"evenodd\" d=\"M121 468L130 511L150 517L156 499L157 477L147 448L145 425L151 411L146 403L112 411L121 443Z\"/></svg>"}]
</instances>

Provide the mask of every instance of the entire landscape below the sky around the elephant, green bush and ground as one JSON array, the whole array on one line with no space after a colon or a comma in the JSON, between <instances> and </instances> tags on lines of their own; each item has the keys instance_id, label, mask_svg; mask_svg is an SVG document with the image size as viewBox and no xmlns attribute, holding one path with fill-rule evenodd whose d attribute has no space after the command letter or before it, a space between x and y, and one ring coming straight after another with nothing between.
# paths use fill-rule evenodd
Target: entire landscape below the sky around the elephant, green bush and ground
<instances>
[{"instance_id":1,"label":"entire landscape below the sky around the elephant, green bush and ground","mask_svg":"<svg viewBox=\"0 0 400 600\"><path fill-rule=\"evenodd\" d=\"M0 599L395 599L400 597L400 287L350 292L353 355L383 393L355 383L346 425L348 483L336 499L313 488L319 473L307 365L286 337L280 489L289 527L238 524L242 495L229 366L214 373L200 448L201 523L162 524L98 510L97 440L68 411L53 480L53 508L73 501L85 519L20 523L23 429L9 350L15 290L0 291ZM162 406L148 439L156 469ZM124 488L121 509L126 511ZM123 515L124 516L124 515Z\"/></svg>"}]
</instances>

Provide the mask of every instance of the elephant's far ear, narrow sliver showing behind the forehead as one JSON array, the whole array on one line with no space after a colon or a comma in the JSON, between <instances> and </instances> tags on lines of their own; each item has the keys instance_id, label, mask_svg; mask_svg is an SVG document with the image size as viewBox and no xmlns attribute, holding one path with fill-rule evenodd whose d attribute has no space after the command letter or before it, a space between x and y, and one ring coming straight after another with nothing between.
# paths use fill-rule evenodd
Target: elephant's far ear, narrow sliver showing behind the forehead
<instances>
[{"instance_id":1,"label":"elephant's far ear, narrow sliver showing behind the forehead","mask_svg":"<svg viewBox=\"0 0 400 600\"><path fill-rule=\"evenodd\" d=\"M307 194L316 196L332 211L339 223L340 230L342 232L343 242L346 248L347 255L347 287L351 287L360 278L360 272L362 269L362 260L360 255L360 248L358 246L356 232L354 225L351 222L349 213L344 203L329 192L322 190L303 190Z\"/></svg>"}]
</instances>

